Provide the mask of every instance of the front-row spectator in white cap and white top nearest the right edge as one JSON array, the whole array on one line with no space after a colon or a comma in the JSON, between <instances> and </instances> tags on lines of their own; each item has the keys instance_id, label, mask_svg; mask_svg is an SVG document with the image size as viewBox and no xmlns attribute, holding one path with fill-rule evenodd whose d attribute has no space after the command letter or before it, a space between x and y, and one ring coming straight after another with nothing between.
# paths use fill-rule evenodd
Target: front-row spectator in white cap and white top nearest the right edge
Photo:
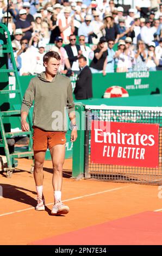
<instances>
[{"instance_id":1,"label":"front-row spectator in white cap and white top nearest the right edge","mask_svg":"<svg viewBox=\"0 0 162 256\"><path fill-rule=\"evenodd\" d=\"M146 59L146 66L148 71L156 71L159 65L159 60L155 53L155 42L150 42L148 46L148 56Z\"/></svg>"}]
</instances>

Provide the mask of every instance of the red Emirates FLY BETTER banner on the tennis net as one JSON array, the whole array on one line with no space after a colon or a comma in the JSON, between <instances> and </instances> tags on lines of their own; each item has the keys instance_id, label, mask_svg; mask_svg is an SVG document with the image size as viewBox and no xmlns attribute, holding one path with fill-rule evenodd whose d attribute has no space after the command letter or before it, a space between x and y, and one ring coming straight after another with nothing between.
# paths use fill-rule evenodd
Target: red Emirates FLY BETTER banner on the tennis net
<instances>
[{"instance_id":1,"label":"red Emirates FLY BETTER banner on the tennis net","mask_svg":"<svg viewBox=\"0 0 162 256\"><path fill-rule=\"evenodd\" d=\"M92 163L157 168L158 158L158 124L92 121Z\"/></svg>"}]
</instances>

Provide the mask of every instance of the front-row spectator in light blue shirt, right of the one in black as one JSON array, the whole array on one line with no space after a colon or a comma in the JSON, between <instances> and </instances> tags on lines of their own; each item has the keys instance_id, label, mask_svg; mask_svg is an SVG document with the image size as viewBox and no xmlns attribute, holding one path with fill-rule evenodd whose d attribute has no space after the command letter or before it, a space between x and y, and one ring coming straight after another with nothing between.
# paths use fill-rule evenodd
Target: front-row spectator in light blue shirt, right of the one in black
<instances>
[{"instance_id":1,"label":"front-row spectator in light blue shirt, right of the one in black","mask_svg":"<svg viewBox=\"0 0 162 256\"><path fill-rule=\"evenodd\" d=\"M115 65L115 51L113 50L114 47L114 40L108 41L108 57L107 57L107 66L106 66L106 72L107 73L114 73L114 65Z\"/></svg>"}]
</instances>

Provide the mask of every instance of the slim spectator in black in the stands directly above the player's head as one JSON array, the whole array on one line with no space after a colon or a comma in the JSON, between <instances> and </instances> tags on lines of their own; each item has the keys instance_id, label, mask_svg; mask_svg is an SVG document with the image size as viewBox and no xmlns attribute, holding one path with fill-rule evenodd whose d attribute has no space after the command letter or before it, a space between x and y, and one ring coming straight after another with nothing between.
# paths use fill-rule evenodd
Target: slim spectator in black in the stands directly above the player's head
<instances>
[{"instance_id":1,"label":"slim spectator in black in the stands directly above the player's head","mask_svg":"<svg viewBox=\"0 0 162 256\"><path fill-rule=\"evenodd\" d=\"M58 13L56 10L53 11L53 15L51 17L51 21L49 22L49 28L51 30L49 44L53 44L55 39L60 36L60 29L57 22Z\"/></svg>"}]
</instances>

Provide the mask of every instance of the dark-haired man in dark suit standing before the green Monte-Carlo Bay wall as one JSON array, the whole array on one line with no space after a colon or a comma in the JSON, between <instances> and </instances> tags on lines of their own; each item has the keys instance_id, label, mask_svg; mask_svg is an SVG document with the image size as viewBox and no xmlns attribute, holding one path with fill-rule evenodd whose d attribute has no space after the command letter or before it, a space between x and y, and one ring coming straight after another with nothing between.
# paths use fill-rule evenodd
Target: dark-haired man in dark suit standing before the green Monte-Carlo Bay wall
<instances>
[{"instance_id":1,"label":"dark-haired man in dark suit standing before the green Monte-Carlo Bay wall","mask_svg":"<svg viewBox=\"0 0 162 256\"><path fill-rule=\"evenodd\" d=\"M92 97L92 73L86 63L86 57L78 58L80 72L78 74L74 94L76 100L84 100Z\"/></svg>"}]
</instances>

